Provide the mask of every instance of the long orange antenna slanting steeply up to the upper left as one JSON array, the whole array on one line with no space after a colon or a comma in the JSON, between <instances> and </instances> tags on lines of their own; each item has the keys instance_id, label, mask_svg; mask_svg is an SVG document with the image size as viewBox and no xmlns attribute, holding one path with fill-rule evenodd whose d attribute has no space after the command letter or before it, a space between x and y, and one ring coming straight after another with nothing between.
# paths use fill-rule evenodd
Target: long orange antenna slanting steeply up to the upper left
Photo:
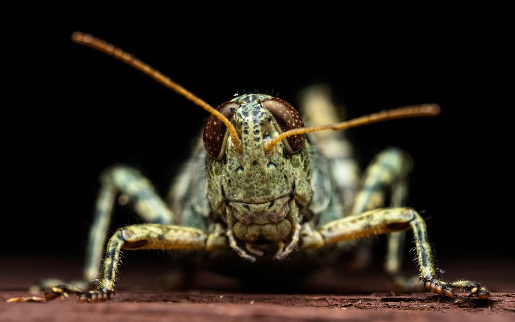
<instances>
[{"instance_id":1,"label":"long orange antenna slanting steeply up to the upper left","mask_svg":"<svg viewBox=\"0 0 515 322\"><path fill-rule=\"evenodd\" d=\"M206 103L201 98L197 97L192 92L186 90L182 86L180 86L175 81L169 79L168 77L161 74L159 71L153 69L146 63L142 62L138 58L135 58L134 56L124 52L122 49L117 48L110 43L107 43L101 39L98 39L96 37L93 37L91 35L88 35L86 33L82 33L79 31L76 31L72 35L72 40L78 44L92 47L99 52L102 52L104 54L110 55L118 60L123 61L124 63L128 64L129 66L134 67L136 70L139 70L140 72L152 77L153 79L159 81L164 86L170 88L171 90L175 91L176 93L186 97L187 99L191 100L194 104L200 106L204 110L210 112L211 114L215 115L218 120L224 122L224 124L229 129L229 133L231 135L231 141L232 145L235 150L242 152L242 142L238 138L238 134L236 133L236 128L232 123L225 117L223 114L218 112L216 109L214 109L211 105Z\"/></svg>"}]
</instances>

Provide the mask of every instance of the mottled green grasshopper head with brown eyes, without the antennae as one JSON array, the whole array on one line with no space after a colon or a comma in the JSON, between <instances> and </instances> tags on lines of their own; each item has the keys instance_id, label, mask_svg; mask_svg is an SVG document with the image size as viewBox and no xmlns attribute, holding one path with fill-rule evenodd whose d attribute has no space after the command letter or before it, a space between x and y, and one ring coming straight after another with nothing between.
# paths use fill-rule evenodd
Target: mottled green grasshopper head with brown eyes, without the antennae
<instances>
[{"instance_id":1,"label":"mottled green grasshopper head with brown eyes, without the antennae","mask_svg":"<svg viewBox=\"0 0 515 322\"><path fill-rule=\"evenodd\" d=\"M204 128L208 160L208 198L236 238L277 243L290 234L292 222L312 196L311 166L305 135L283 140L265 152L263 142L303 127L286 101L264 94L235 97L218 107L235 125L242 152L232 147L227 128L212 116Z\"/></svg>"}]
</instances>

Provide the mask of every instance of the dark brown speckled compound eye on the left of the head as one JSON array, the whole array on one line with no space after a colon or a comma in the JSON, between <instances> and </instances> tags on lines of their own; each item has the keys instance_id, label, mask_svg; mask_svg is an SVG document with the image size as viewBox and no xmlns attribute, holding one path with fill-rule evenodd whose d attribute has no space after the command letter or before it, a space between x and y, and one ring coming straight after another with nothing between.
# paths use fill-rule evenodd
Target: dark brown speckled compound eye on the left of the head
<instances>
[{"instance_id":1,"label":"dark brown speckled compound eye on the left of the head","mask_svg":"<svg viewBox=\"0 0 515 322\"><path fill-rule=\"evenodd\" d=\"M220 104L216 109L231 121L232 116L236 113L239 103L228 101ZM215 115L208 118L208 122L204 126L204 148L208 152L208 156L215 160L221 160L224 157L224 149L227 142L227 126L224 122L218 120Z\"/></svg>"}]
</instances>

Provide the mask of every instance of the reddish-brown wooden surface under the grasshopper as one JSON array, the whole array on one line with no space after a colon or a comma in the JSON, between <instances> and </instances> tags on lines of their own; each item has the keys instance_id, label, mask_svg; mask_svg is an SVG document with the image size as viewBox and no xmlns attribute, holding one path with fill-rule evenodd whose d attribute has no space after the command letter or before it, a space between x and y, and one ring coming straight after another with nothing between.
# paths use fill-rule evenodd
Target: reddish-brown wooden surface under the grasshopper
<instances>
[{"instance_id":1,"label":"reddish-brown wooden surface under the grasshopper","mask_svg":"<svg viewBox=\"0 0 515 322\"><path fill-rule=\"evenodd\" d=\"M473 276L492 291L491 300L469 299L459 294L447 299L432 293L394 294L382 276L365 271L354 276L335 277L329 272L315 276L313 283L342 292L250 293L237 291L237 283L208 273L195 291L159 290L158 263L124 264L119 290L107 303L79 304L75 297L50 303L6 303L10 297L28 296L27 285L38 276L48 276L49 267L63 278L76 278L80 263L65 259L10 258L0 261L0 321L332 321L332 320L460 320L515 319L515 282L510 277L514 262L483 261L481 265L455 262L445 276ZM151 267L150 267L151 266ZM457 273L460 272L460 273ZM144 274L147 273L147 274ZM150 274L148 274L150 273ZM63 276L64 275L64 276ZM56 274L52 274L53 277ZM317 280L318 279L318 280ZM218 283L218 284L216 284ZM200 284L203 284L200 285ZM146 287L146 289L145 289ZM357 287L357 289L356 289ZM359 291L361 287L362 291ZM151 288L151 289L149 289ZM218 289L210 291L210 289ZM224 290L225 289L225 290ZM358 290L347 293L345 290ZM376 289L376 292L371 290Z\"/></svg>"}]
</instances>

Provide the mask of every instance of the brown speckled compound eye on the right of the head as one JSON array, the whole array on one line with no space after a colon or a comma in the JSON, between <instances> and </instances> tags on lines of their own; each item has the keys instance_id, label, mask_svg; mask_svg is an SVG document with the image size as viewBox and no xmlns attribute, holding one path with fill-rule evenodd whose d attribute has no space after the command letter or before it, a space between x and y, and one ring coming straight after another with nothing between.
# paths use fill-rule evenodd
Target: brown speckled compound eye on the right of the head
<instances>
[{"instance_id":1,"label":"brown speckled compound eye on the right of the head","mask_svg":"<svg viewBox=\"0 0 515 322\"><path fill-rule=\"evenodd\" d=\"M266 98L261 101L261 106L270 112L279 133L304 127L304 122L302 122L299 112L284 99L277 97ZM293 137L283 140L283 143L290 154L295 154L302 149L305 139L305 134L293 135Z\"/></svg>"}]
</instances>

